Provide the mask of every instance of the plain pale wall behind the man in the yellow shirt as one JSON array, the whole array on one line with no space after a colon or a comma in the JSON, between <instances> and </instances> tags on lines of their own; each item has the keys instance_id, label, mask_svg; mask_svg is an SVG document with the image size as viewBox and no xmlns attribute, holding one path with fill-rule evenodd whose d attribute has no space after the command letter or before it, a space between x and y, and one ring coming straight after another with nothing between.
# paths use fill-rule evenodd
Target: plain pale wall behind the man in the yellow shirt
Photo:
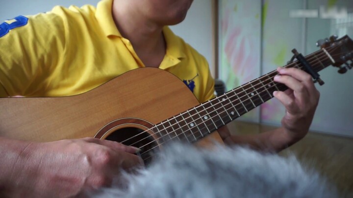
<instances>
[{"instance_id":1,"label":"plain pale wall behind the man in the yellow shirt","mask_svg":"<svg viewBox=\"0 0 353 198\"><path fill-rule=\"evenodd\" d=\"M0 0L0 22L18 15L33 15L51 10L55 5L68 7L84 4L96 5L100 0ZM212 63L211 0L194 0L184 22L172 30L196 48L208 63ZM214 74L214 68L211 68Z\"/></svg>"}]
</instances>

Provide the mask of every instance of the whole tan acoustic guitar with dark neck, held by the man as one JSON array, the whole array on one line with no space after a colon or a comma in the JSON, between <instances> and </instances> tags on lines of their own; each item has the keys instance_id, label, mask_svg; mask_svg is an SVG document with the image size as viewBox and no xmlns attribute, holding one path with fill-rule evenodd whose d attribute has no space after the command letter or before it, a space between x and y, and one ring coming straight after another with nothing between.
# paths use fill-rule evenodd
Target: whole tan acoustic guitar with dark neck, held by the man
<instances>
[{"instance_id":1,"label":"whole tan acoustic guitar with dark neck, held by the man","mask_svg":"<svg viewBox=\"0 0 353 198\"><path fill-rule=\"evenodd\" d=\"M353 42L330 37L303 57L318 72L329 65L344 73L352 67ZM342 66L345 64L345 66ZM285 67L308 71L299 59ZM141 148L148 161L170 141L205 143L217 129L273 98L287 87L273 81L277 71L200 104L173 74L139 68L86 93L68 97L0 98L0 136L30 141L96 137ZM200 141L199 141L200 140Z\"/></svg>"}]
</instances>

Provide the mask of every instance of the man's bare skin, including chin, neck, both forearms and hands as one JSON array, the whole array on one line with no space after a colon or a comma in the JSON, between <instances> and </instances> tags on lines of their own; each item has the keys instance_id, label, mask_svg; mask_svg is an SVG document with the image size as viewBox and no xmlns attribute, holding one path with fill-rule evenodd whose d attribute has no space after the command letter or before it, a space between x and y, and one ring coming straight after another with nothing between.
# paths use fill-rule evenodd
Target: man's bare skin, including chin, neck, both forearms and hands
<instances>
[{"instance_id":1,"label":"man's bare skin, including chin, neck, both forearms and hands","mask_svg":"<svg viewBox=\"0 0 353 198\"><path fill-rule=\"evenodd\" d=\"M192 0L114 0L112 16L146 66L158 67L165 55L162 28L182 22ZM311 76L296 68L278 69L274 80L290 89L274 93L286 113L282 127L253 136L219 130L229 144L248 144L259 150L280 151L305 136L319 92ZM141 164L136 148L108 140L83 138L37 143L0 138L1 197L75 197L109 186L121 168ZM2 196L4 195L4 196Z\"/></svg>"}]
</instances>

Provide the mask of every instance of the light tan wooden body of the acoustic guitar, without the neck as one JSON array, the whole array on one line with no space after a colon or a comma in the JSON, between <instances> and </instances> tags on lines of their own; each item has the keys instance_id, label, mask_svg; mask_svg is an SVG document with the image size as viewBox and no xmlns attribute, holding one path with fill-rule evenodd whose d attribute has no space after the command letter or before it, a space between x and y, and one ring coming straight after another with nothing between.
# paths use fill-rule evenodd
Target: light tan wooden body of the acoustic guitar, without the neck
<instances>
[{"instance_id":1,"label":"light tan wooden body of the acoustic guitar, without the neck","mask_svg":"<svg viewBox=\"0 0 353 198\"><path fill-rule=\"evenodd\" d=\"M148 129L199 104L176 76L145 67L75 96L0 98L0 136L39 142L82 137L116 140L113 136L119 136L120 129L135 128L158 139ZM128 131L123 136L140 133ZM211 139L222 141L213 132L201 144Z\"/></svg>"}]
</instances>

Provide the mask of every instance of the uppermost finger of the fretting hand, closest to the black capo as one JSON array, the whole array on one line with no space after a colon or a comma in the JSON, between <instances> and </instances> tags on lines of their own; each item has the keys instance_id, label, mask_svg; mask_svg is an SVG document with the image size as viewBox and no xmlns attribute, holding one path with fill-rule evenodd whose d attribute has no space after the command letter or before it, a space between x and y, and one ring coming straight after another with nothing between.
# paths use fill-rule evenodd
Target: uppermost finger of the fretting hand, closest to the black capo
<instances>
[{"instance_id":1,"label":"uppermost finger of the fretting hand, closest to the black capo","mask_svg":"<svg viewBox=\"0 0 353 198\"><path fill-rule=\"evenodd\" d=\"M311 75L301 69L294 68L294 67L291 67L291 68L278 67L277 71L281 75L292 76L298 81L304 83L306 87L310 89L315 87L312 81Z\"/></svg>"}]
</instances>

